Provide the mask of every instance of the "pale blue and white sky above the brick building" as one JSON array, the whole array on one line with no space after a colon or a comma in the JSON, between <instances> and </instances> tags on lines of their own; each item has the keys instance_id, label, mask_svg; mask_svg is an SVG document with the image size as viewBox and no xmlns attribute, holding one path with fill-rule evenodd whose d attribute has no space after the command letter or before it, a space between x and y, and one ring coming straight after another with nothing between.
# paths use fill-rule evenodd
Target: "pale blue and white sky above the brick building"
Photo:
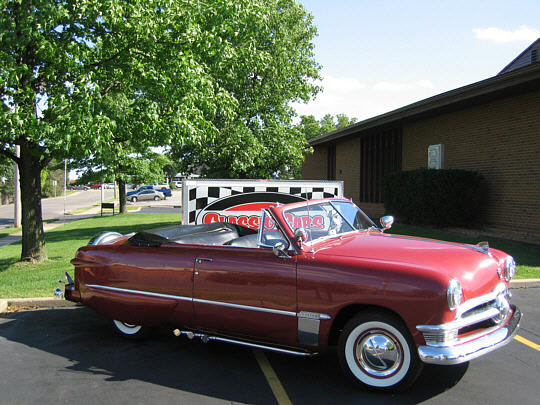
<instances>
[{"instance_id":1,"label":"pale blue and white sky above the brick building","mask_svg":"<svg viewBox=\"0 0 540 405\"><path fill-rule=\"evenodd\" d=\"M495 76L540 37L540 0L297 0L324 88L299 115L363 120Z\"/></svg>"}]
</instances>

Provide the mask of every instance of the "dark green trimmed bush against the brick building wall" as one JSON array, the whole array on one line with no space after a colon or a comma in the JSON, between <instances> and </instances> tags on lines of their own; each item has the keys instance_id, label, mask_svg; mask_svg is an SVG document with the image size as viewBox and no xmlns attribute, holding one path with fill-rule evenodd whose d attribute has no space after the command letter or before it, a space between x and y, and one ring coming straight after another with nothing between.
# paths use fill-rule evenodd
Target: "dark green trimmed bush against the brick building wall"
<instances>
[{"instance_id":1,"label":"dark green trimmed bush against the brick building wall","mask_svg":"<svg viewBox=\"0 0 540 405\"><path fill-rule=\"evenodd\" d=\"M486 190L484 177L468 170L394 172L383 180L384 208L405 223L466 227L481 221Z\"/></svg>"}]
</instances>

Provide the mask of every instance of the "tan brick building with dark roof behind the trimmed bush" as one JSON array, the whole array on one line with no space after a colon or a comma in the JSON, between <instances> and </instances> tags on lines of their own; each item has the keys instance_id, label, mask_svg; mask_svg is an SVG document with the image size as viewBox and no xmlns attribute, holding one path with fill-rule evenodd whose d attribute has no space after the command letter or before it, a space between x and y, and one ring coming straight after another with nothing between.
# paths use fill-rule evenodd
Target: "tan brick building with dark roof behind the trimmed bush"
<instances>
[{"instance_id":1,"label":"tan brick building with dark roof behind the trimmed bush","mask_svg":"<svg viewBox=\"0 0 540 405\"><path fill-rule=\"evenodd\" d=\"M388 172L478 171L489 190L484 230L540 244L539 48L540 39L495 77L312 139L303 178L343 180L345 195L379 217Z\"/></svg>"}]
</instances>

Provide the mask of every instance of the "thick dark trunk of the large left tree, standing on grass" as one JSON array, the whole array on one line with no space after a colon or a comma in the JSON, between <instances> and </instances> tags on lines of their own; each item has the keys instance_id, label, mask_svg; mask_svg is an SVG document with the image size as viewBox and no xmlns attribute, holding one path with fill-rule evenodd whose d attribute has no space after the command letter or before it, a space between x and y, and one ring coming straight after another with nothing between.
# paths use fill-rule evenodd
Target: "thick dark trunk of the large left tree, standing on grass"
<instances>
[{"instance_id":1,"label":"thick dark trunk of the large left tree, standing on grass","mask_svg":"<svg viewBox=\"0 0 540 405\"><path fill-rule=\"evenodd\" d=\"M19 172L21 176L22 251L21 260L47 260L43 217L41 214L41 163L36 148L21 146Z\"/></svg>"}]
</instances>

